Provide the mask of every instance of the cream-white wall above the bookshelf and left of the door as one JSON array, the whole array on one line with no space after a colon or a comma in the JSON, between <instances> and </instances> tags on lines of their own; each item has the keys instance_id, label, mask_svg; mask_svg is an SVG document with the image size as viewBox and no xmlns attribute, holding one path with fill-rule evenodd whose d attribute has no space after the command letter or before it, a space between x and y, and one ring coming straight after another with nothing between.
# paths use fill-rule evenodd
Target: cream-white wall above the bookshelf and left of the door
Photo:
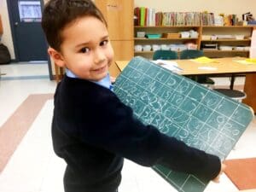
<instances>
[{"instance_id":1,"label":"cream-white wall above the bookshelf and left of the door","mask_svg":"<svg viewBox=\"0 0 256 192\"><path fill-rule=\"evenodd\" d=\"M9 15L7 12L8 0L0 0L0 14L3 21L3 44L6 44L15 59L13 40L9 26ZM45 0L46 2L47 0ZM160 11L209 11L214 14L236 14L241 15L250 11L256 17L255 0L135 0L135 7L155 8Z\"/></svg>"}]
</instances>

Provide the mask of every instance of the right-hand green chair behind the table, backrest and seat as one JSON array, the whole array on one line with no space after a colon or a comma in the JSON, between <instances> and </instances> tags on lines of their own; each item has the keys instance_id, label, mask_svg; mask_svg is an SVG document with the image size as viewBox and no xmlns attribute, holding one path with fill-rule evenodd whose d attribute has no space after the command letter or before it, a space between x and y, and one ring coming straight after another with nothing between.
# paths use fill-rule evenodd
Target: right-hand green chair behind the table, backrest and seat
<instances>
[{"instance_id":1,"label":"right-hand green chair behind the table, backrest and seat","mask_svg":"<svg viewBox=\"0 0 256 192\"><path fill-rule=\"evenodd\" d=\"M202 50L186 49L186 50L182 50L180 52L179 58L181 60L195 59L195 58L201 57L203 55L204 55L204 52ZM208 78L206 75L193 76L193 77L190 77L190 79L195 80L199 84L206 84L207 86L210 86L210 85L214 84L214 81L212 79Z\"/></svg>"}]
</instances>

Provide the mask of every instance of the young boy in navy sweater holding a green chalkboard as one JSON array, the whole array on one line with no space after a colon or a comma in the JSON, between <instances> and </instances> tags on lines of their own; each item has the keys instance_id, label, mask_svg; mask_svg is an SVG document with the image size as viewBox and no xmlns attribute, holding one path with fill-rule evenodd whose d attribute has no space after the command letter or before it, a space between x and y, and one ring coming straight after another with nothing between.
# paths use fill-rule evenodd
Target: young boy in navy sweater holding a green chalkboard
<instances>
[{"instance_id":1,"label":"young boy in navy sweater holding a green chalkboard","mask_svg":"<svg viewBox=\"0 0 256 192\"><path fill-rule=\"evenodd\" d=\"M143 125L110 89L113 49L94 3L49 0L42 26L49 55L67 68L55 91L52 121L55 154L67 162L66 192L117 191L123 158L218 181L224 166L217 156Z\"/></svg>"}]
</instances>

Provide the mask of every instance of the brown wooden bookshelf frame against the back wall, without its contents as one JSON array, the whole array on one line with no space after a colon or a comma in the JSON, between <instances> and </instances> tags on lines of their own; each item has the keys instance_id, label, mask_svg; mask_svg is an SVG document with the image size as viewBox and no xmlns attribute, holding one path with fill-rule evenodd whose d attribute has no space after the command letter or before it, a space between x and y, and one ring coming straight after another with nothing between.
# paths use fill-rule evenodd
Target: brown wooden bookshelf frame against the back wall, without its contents
<instances>
[{"instance_id":1,"label":"brown wooden bookshelf frame against the back wall, without its contents","mask_svg":"<svg viewBox=\"0 0 256 192\"><path fill-rule=\"evenodd\" d=\"M134 44L186 44L194 43L197 49L202 49L203 44L218 44L219 46L245 47L245 49L232 50L204 50L205 54L210 57L218 56L245 56L249 55L251 46L251 37L255 26L134 26ZM194 30L198 32L198 38L137 38L137 32L145 33L166 33L166 32L184 32ZM244 38L222 38L222 39L203 39L203 36L212 35L242 35ZM135 55L143 55L152 58L154 51L135 51Z\"/></svg>"}]
</instances>

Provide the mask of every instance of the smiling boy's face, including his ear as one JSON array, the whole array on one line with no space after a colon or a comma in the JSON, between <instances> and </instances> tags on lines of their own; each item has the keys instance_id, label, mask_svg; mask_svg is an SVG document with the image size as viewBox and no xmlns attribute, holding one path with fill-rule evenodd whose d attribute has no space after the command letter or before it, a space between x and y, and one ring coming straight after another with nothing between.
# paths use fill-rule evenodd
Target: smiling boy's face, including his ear
<instances>
[{"instance_id":1,"label":"smiling boy's face, including his ear","mask_svg":"<svg viewBox=\"0 0 256 192\"><path fill-rule=\"evenodd\" d=\"M92 16L79 18L67 25L61 35L61 53L52 55L49 51L58 66L67 67L80 79L98 81L106 77L113 49L101 20Z\"/></svg>"}]
</instances>

